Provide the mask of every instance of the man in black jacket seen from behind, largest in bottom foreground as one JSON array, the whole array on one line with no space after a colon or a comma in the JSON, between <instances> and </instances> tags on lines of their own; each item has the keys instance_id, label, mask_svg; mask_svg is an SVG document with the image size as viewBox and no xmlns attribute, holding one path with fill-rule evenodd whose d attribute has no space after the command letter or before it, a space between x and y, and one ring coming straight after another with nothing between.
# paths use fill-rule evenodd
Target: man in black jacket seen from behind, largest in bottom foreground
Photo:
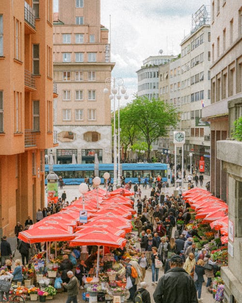
<instances>
[{"instance_id":1,"label":"man in black jacket seen from behind, largest in bottom foreground","mask_svg":"<svg viewBox=\"0 0 242 303\"><path fill-rule=\"evenodd\" d=\"M198 303L193 278L182 268L182 258L170 258L171 269L159 280L153 293L155 303Z\"/></svg>"}]
</instances>

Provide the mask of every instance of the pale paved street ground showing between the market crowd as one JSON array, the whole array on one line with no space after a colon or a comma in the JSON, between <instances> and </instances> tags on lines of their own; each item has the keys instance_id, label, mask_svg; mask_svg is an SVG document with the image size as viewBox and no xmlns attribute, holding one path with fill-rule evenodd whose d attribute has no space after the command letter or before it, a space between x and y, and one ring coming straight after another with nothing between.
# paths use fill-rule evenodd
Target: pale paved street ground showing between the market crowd
<instances>
[{"instance_id":1,"label":"pale paved street ground showing between the market crowd","mask_svg":"<svg viewBox=\"0 0 242 303\"><path fill-rule=\"evenodd\" d=\"M210 176L204 175L204 181L203 181L202 188L205 189L205 184L209 180L210 180ZM103 186L103 185L101 185L101 186ZM132 186L132 189L133 189L133 186ZM183 190L184 191L187 190L187 181L185 181L184 184L183 184ZM79 197L80 196L80 193L78 191L78 186L77 185L65 186L63 188L63 190L59 190L59 196L61 196L61 194L62 194L63 191L66 191L67 201L69 201L69 202L71 202L73 199L75 199L75 197ZM147 197L150 196L150 191L151 190L148 188L148 186L147 186L147 189L144 189L142 187L142 185L141 185L141 191L142 191L142 196L141 197L143 197L144 195L147 195ZM170 188L167 189L167 192L169 194L173 193L173 191L174 191L174 187L170 187ZM135 203L135 205L136 205L136 203ZM174 233L174 228L173 228L173 233ZM137 243L137 245L138 245L138 243ZM160 269L159 277L161 277L163 274L164 274L163 269ZM155 289L156 286L151 286L151 269L148 269L146 271L145 281L148 284L148 288L147 289L149 290L149 292L151 294L151 303L154 303L152 294L153 294L154 289ZM205 281L207 281L206 277L205 277ZM57 294L55 296L54 302L64 302L65 298L66 298L66 294L65 293L59 293L59 294ZM204 285L202 287L202 296L201 296L201 298L203 299L202 300L203 303L211 303L211 302L213 302L212 294L208 293L208 291L206 290L205 283L204 283ZM79 297L79 300L82 301L81 296Z\"/></svg>"}]
</instances>

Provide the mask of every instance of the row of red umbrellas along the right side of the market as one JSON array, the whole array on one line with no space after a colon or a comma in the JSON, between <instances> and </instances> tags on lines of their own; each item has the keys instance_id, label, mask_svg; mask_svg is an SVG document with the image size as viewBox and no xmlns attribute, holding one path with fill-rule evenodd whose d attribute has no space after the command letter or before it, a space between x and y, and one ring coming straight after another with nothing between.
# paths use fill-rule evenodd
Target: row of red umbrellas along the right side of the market
<instances>
[{"instance_id":1,"label":"row of red umbrellas along the right side of the market","mask_svg":"<svg viewBox=\"0 0 242 303\"><path fill-rule=\"evenodd\" d=\"M219 198L204 189L194 188L184 192L184 199L196 211L195 219L203 219L203 223L210 223L211 228L220 230L223 235L221 242L228 241L228 206Z\"/></svg>"}]
</instances>

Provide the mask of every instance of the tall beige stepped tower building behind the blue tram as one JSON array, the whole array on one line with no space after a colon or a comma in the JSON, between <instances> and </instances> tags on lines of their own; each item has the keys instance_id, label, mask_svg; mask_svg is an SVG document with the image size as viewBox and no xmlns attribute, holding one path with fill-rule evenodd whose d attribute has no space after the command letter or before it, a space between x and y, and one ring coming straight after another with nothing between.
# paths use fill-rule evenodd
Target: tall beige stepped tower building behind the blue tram
<instances>
[{"instance_id":1,"label":"tall beige stepped tower building behind the blue tram","mask_svg":"<svg viewBox=\"0 0 242 303\"><path fill-rule=\"evenodd\" d=\"M104 94L111 77L108 30L100 24L100 0L59 0L54 21L55 163L112 162L111 107Z\"/></svg>"}]
</instances>

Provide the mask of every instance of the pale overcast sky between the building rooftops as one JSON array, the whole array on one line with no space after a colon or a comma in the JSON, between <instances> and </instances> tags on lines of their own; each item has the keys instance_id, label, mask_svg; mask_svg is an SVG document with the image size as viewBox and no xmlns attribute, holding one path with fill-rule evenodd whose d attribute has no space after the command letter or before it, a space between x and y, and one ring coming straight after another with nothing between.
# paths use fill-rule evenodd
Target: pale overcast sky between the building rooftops
<instances>
[{"instance_id":1,"label":"pale overcast sky between the building rooftops","mask_svg":"<svg viewBox=\"0 0 242 303\"><path fill-rule=\"evenodd\" d=\"M101 0L101 24L108 29L111 15L112 77L123 78L129 100L137 92L136 71L142 61L160 49L163 55L179 54L192 14L203 4L210 5L210 0Z\"/></svg>"}]
</instances>

